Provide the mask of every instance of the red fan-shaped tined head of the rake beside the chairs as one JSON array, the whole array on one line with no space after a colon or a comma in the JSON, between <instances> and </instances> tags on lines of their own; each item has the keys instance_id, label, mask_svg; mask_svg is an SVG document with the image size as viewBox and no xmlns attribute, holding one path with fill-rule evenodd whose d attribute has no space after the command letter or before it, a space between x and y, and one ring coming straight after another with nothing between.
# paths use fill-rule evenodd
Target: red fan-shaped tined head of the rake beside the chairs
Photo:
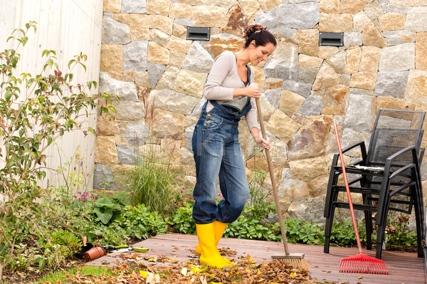
<instances>
[{"instance_id":1,"label":"red fan-shaped tined head of the rake beside the chairs","mask_svg":"<svg viewBox=\"0 0 427 284\"><path fill-rule=\"evenodd\" d=\"M357 256L342 258L339 263L339 272L389 274L389 267L378 258L359 253Z\"/></svg>"}]
</instances>

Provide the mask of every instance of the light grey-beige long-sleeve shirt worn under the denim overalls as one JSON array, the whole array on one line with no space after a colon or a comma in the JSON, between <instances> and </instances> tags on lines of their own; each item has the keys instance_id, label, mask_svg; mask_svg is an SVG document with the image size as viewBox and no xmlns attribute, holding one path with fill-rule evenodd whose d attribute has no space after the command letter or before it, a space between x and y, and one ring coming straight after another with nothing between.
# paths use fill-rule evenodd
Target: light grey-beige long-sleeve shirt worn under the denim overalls
<instances>
[{"instance_id":1,"label":"light grey-beige long-sleeve shirt worn under the denim overalls","mask_svg":"<svg viewBox=\"0 0 427 284\"><path fill-rule=\"evenodd\" d=\"M251 82L253 82L253 72L251 72ZM233 98L235 88L245 88L245 83L238 76L236 55L231 51L224 51L215 58L211 73L204 85L203 95L206 100L216 100L218 103L228 100L238 100L239 96ZM255 99L251 98L251 110L245 115L249 130L258 127ZM209 112L214 106L208 102L206 111Z\"/></svg>"}]
</instances>

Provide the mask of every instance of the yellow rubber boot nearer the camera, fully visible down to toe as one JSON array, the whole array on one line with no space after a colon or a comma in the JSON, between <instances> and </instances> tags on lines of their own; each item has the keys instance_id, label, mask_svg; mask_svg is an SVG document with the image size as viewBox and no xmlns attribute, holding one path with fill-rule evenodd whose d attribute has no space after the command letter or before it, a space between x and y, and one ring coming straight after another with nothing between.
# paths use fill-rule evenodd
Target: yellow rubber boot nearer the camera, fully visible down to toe
<instances>
[{"instance_id":1,"label":"yellow rubber boot nearer the camera, fully visible down to toe","mask_svg":"<svg viewBox=\"0 0 427 284\"><path fill-rule=\"evenodd\" d=\"M215 243L214 223L196 224L197 238L201 248L200 262L214 268L223 268L227 265L218 253Z\"/></svg>"}]
</instances>

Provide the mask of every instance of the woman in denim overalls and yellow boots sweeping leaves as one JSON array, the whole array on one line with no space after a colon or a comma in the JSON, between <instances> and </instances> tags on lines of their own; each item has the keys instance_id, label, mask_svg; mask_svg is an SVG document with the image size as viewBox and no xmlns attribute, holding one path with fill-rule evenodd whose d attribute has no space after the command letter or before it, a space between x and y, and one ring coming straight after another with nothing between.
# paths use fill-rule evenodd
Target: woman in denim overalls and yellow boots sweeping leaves
<instances>
[{"instance_id":1,"label":"woman in denim overalls and yellow boots sweeping leaves","mask_svg":"<svg viewBox=\"0 0 427 284\"><path fill-rule=\"evenodd\" d=\"M238 122L244 115L255 143L270 149L270 141L260 137L255 98L261 90L253 82L248 63L256 66L266 61L277 45L275 37L255 24L245 30L241 51L225 51L216 57L204 86L199 121L194 128L192 147L196 162L193 218L196 221L200 262L223 268L231 261L223 258L217 244L228 223L240 216L249 197L248 182L241 147ZM218 182L224 197L216 204Z\"/></svg>"}]
</instances>

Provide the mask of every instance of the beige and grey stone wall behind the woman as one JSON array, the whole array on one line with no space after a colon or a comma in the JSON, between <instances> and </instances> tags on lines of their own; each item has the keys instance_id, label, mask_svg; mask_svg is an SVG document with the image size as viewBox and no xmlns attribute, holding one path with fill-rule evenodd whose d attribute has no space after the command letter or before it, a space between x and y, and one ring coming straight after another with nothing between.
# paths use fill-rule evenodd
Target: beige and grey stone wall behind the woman
<instances>
[{"instance_id":1,"label":"beige and grey stone wall behind the woman","mask_svg":"<svg viewBox=\"0 0 427 284\"><path fill-rule=\"evenodd\" d=\"M380 107L427 108L426 14L425 0L104 0L100 90L121 101L116 121L98 120L94 188L105 180L117 190L117 172L149 142L174 147L179 182L194 185L191 135L206 76L219 53L241 48L244 26L261 23L279 40L252 69L282 207L324 221L332 120L346 146L369 141ZM186 26L210 27L211 41L187 41ZM320 46L322 32L344 33L344 46ZM240 131L250 180L268 168L244 121Z\"/></svg>"}]
</instances>

